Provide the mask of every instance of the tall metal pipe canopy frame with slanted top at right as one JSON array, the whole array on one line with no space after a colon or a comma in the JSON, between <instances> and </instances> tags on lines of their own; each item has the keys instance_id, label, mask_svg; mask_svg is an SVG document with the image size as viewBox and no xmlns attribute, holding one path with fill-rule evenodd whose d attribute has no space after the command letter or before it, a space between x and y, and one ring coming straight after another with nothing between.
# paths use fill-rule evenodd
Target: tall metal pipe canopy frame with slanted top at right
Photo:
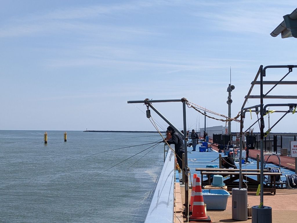
<instances>
[{"instance_id":1,"label":"tall metal pipe canopy frame with slanted top at right","mask_svg":"<svg viewBox=\"0 0 297 223\"><path fill-rule=\"evenodd\" d=\"M259 67L259 70L258 70L258 72L256 74L256 77L255 77L254 81L252 81L252 83L251 83L252 86L249 89L248 94L245 96L245 101L244 101L244 103L243 103L243 105L241 107L241 115L240 115L240 119L241 119L241 123L240 123L240 157L242 156L241 155L242 154L242 146L243 146L243 142L244 142L244 132L243 132L243 127L244 126L243 126L243 122L244 122L245 113L252 111L252 112L256 112L256 114L258 114L260 112L260 118L259 118L260 119L260 153L261 153L261 158L260 158L260 162L261 162L261 166L260 166L260 169L261 169L261 174L260 174L260 186L261 186L260 204L263 204L263 180L264 180L263 179L264 178L264 176L263 176L263 169L264 169L263 139L264 139L264 136L269 134L271 129L275 125L277 125L277 123L279 123L279 121L282 120L282 118L285 117L286 114L288 114L290 112L293 112L293 109L296 108L296 106L297 106L297 103L266 104L264 106L263 100L264 100L264 98L267 98L267 99L268 98L297 99L297 96L268 95L268 93L271 92L271 90L274 89L279 84L297 84L297 81L282 81L289 73L291 73L293 71L294 67L297 67L297 65L266 66L264 68L263 68L263 65L261 65ZM263 81L263 77L266 76L266 70L268 68L288 68L289 71L279 81ZM260 81L257 81L259 75L260 75ZM250 95L255 84L260 84L260 95ZM266 92L266 94L264 94L263 93L263 85L264 84L273 84L274 86L270 90L268 90L268 92ZM260 98L260 104L255 105L255 106L251 106L251 107L244 107L249 98ZM268 129L268 131L266 131L264 133L264 127L265 127L264 115L267 114L268 111L266 110L266 108L269 107L269 106L287 106L287 107L289 107L289 109L288 110L275 111L275 112L282 112L282 113L285 113L285 114L272 127L270 127ZM255 109L255 110L250 110L250 109ZM257 123L258 120L255 123ZM250 126L249 128L251 128L252 126ZM246 131L248 131L249 128ZM239 162L239 171L240 171L239 189L241 189L241 183L242 183L242 179L241 179L241 162ZM262 205L262 207L263 206L264 205Z\"/></svg>"}]
</instances>

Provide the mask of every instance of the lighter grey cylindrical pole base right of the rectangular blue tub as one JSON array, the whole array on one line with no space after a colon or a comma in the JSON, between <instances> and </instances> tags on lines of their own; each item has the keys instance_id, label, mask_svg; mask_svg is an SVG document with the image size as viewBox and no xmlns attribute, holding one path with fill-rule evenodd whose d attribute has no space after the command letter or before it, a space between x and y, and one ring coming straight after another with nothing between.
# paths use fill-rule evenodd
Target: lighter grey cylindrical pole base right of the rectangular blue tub
<instances>
[{"instance_id":1,"label":"lighter grey cylindrical pole base right of the rectangular blue tub","mask_svg":"<svg viewBox=\"0 0 297 223\"><path fill-rule=\"evenodd\" d=\"M247 220L247 189L232 189L232 219Z\"/></svg>"}]
</instances>

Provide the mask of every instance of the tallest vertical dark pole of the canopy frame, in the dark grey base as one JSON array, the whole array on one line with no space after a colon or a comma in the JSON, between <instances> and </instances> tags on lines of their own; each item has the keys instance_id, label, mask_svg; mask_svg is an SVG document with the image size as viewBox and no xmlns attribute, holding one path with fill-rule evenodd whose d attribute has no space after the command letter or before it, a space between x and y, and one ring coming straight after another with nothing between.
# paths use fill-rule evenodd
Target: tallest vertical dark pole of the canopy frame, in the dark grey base
<instances>
[{"instance_id":1,"label":"tallest vertical dark pole of the canopy frame, in the dark grey base","mask_svg":"<svg viewBox=\"0 0 297 223\"><path fill-rule=\"evenodd\" d=\"M264 118L263 118L263 67L261 67L261 72L260 72L260 185L261 185L261 191L260 191L260 203L263 203L263 169L264 169L264 158L263 158L263 139L264 139Z\"/></svg>"}]
</instances>

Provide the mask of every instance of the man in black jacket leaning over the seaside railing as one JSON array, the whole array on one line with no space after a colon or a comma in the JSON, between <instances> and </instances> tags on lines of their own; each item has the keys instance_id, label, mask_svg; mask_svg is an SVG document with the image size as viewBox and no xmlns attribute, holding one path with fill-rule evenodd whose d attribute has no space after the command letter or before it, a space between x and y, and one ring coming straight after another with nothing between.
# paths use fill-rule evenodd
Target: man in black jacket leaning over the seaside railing
<instances>
[{"instance_id":1,"label":"man in black jacket leaning over the seaside railing","mask_svg":"<svg viewBox=\"0 0 297 223\"><path fill-rule=\"evenodd\" d=\"M177 162L179 167L182 168L182 157L183 153L185 152L184 140L171 126L168 126L167 130L171 134L171 139L166 141L168 142L168 144L174 144Z\"/></svg>"}]
</instances>

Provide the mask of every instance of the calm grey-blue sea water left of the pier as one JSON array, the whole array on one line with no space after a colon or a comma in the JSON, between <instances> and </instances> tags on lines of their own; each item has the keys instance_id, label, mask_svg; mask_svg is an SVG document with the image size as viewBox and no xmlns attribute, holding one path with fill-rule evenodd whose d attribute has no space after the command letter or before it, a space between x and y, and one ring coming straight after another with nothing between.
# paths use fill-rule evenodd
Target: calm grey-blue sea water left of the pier
<instances>
[{"instance_id":1,"label":"calm grey-blue sea water left of the pier","mask_svg":"<svg viewBox=\"0 0 297 223\"><path fill-rule=\"evenodd\" d=\"M64 142L63 133L48 131L44 144L44 131L0 131L0 222L143 222L162 169L164 144L94 179L151 145L84 157L161 141L160 136L68 131ZM149 135L156 136L129 138Z\"/></svg>"}]
</instances>

